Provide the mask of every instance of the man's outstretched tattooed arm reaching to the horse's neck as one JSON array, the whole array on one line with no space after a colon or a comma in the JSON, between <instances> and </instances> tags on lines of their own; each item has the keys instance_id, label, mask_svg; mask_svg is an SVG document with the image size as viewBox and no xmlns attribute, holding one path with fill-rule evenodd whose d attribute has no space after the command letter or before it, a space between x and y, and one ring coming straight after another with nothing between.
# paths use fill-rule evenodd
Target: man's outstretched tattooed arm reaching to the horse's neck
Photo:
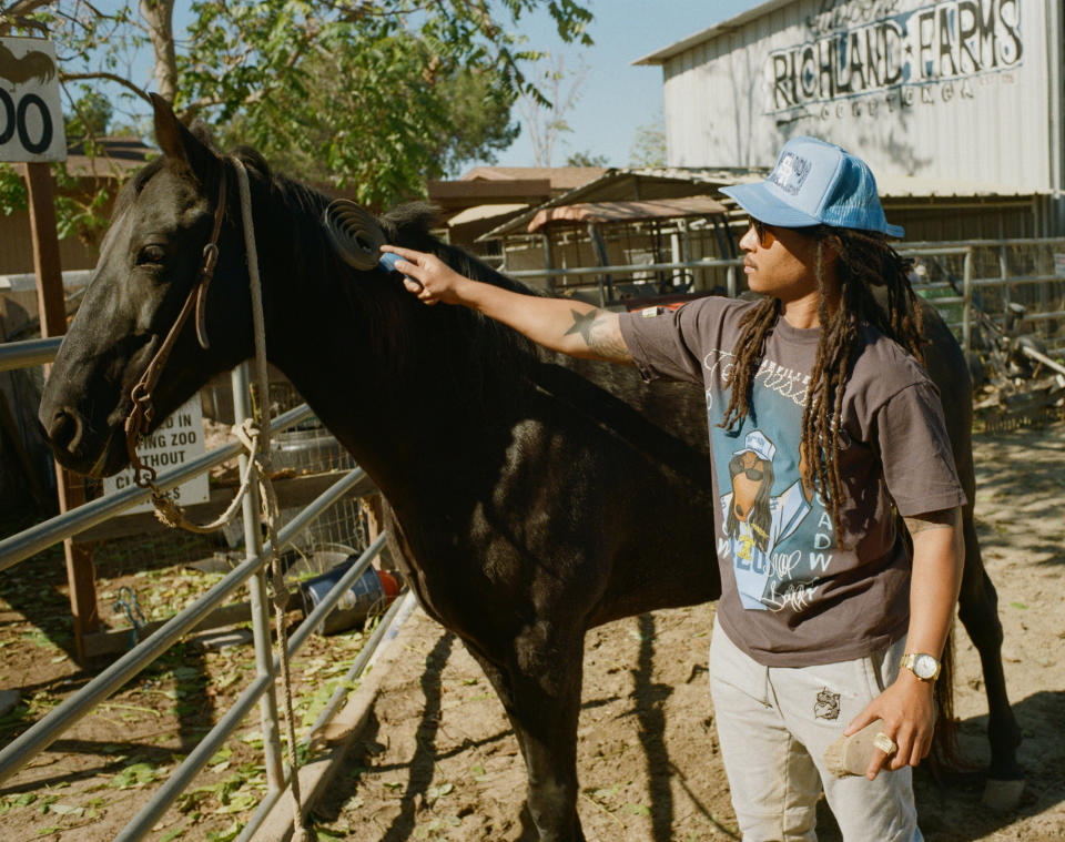
<instances>
[{"instance_id":1,"label":"man's outstretched tattooed arm reaching to the horse's neck","mask_svg":"<svg viewBox=\"0 0 1065 842\"><path fill-rule=\"evenodd\" d=\"M382 246L382 251L403 257L396 270L406 275L404 286L426 304L462 304L551 351L632 365L617 313L584 302L524 295L473 281L425 252L392 245Z\"/></svg>"}]
</instances>

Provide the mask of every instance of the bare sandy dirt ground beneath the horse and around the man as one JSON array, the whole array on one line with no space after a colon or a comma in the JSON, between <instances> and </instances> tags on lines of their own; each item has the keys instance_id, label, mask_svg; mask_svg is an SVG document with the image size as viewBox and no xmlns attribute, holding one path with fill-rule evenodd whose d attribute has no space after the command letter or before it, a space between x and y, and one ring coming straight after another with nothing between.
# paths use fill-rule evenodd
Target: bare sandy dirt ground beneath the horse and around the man
<instances>
[{"instance_id":1,"label":"bare sandy dirt ground beneath the horse and around the man","mask_svg":"<svg viewBox=\"0 0 1065 842\"><path fill-rule=\"evenodd\" d=\"M937 781L921 769L920 823L932 842L1065 840L1065 425L980 435L976 464L1027 785L1017 809L996 812L981 803L981 773ZM657 611L589 636L577 761L589 840L739 838L707 687L712 612ZM407 651L320 807L321 826L353 842L534 840L520 820L517 743L476 663L419 612L396 642ZM962 748L986 764L983 678L964 631L956 652ZM819 838L839 839L823 803Z\"/></svg>"}]
</instances>

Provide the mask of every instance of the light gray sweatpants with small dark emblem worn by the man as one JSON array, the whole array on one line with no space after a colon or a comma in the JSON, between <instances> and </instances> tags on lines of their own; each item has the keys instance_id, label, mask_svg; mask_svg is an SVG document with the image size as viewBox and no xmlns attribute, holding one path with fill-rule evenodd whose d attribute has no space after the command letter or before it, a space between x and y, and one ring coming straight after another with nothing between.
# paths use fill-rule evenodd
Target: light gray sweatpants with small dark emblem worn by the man
<instances>
[{"instance_id":1,"label":"light gray sweatpants with small dark emblem worn by the man","mask_svg":"<svg viewBox=\"0 0 1065 842\"><path fill-rule=\"evenodd\" d=\"M895 680L905 638L888 651L819 667L763 667L714 619L710 692L744 842L815 840L822 787L844 842L920 842L909 767L835 778L824 750Z\"/></svg>"}]
</instances>

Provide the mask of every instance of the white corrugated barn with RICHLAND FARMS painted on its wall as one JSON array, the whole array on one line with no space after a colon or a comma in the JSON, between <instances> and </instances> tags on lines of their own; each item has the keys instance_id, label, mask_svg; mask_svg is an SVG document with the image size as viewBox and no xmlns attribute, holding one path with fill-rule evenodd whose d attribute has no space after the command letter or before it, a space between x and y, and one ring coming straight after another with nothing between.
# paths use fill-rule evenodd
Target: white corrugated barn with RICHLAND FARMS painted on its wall
<instances>
[{"instance_id":1,"label":"white corrugated barn with RICHLAND FARMS painted on its wall","mask_svg":"<svg viewBox=\"0 0 1065 842\"><path fill-rule=\"evenodd\" d=\"M861 155L910 241L1065 234L1061 0L770 0L659 49L668 163Z\"/></svg>"}]
</instances>

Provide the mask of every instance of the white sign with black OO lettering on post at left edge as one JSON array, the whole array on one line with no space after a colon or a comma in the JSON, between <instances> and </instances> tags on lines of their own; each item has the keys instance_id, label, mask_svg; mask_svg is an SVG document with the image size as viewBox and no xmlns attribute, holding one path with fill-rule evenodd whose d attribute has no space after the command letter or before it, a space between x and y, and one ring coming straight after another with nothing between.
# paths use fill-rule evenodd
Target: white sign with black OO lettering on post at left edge
<instances>
[{"instance_id":1,"label":"white sign with black OO lettering on post at left edge","mask_svg":"<svg viewBox=\"0 0 1065 842\"><path fill-rule=\"evenodd\" d=\"M67 136L55 49L41 38L0 38L0 161L63 161Z\"/></svg>"}]
</instances>

